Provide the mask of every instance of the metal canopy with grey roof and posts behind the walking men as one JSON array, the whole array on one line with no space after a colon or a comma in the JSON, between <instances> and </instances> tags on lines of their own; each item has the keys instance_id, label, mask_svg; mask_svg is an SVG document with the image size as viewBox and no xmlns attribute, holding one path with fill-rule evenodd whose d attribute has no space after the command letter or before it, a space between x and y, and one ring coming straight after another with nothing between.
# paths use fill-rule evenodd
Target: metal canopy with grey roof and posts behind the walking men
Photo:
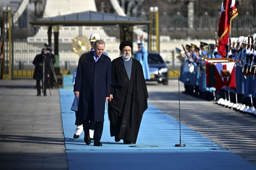
<instances>
[{"instance_id":1,"label":"metal canopy with grey roof and posts behind the walking men","mask_svg":"<svg viewBox=\"0 0 256 170\"><path fill-rule=\"evenodd\" d=\"M54 30L54 54L56 58L55 73L59 75L59 50L58 50L58 36L59 26L116 26L120 28L120 42L124 40L133 41L133 26L135 25L147 25L153 23L151 20L144 20L142 18L121 16L110 13L85 11L80 13L73 13L67 15L60 15L49 18L40 18L35 21L29 22L34 26L47 26L48 27L48 43L51 45L52 28ZM150 36L150 35L149 35ZM149 39L150 41L150 39ZM149 42L150 44L150 42Z\"/></svg>"}]
</instances>

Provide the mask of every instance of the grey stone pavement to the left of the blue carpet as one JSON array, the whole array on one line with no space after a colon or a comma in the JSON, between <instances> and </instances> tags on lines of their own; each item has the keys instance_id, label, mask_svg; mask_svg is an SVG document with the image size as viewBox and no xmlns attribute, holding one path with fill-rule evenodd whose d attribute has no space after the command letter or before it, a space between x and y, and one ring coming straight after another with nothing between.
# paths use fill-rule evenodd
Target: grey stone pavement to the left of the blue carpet
<instances>
[{"instance_id":1,"label":"grey stone pavement to the left of the blue carpet","mask_svg":"<svg viewBox=\"0 0 256 170\"><path fill-rule=\"evenodd\" d=\"M36 96L35 80L0 80L0 169L68 169L59 90Z\"/></svg>"}]
</instances>

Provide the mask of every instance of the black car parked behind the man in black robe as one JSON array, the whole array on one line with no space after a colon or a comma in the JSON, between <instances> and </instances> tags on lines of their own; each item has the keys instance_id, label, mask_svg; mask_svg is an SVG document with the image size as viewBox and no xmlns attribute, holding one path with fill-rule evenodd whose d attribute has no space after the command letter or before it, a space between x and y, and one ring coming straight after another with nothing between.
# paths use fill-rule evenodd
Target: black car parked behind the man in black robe
<instances>
[{"instance_id":1,"label":"black car parked behind the man in black robe","mask_svg":"<svg viewBox=\"0 0 256 170\"><path fill-rule=\"evenodd\" d=\"M150 57L155 58L159 63L166 66L162 57L158 53L148 52L148 67L150 71L150 80L146 81L157 81L158 83L163 83L164 85L168 85L168 69L163 67L161 64L156 63Z\"/></svg>"}]
</instances>

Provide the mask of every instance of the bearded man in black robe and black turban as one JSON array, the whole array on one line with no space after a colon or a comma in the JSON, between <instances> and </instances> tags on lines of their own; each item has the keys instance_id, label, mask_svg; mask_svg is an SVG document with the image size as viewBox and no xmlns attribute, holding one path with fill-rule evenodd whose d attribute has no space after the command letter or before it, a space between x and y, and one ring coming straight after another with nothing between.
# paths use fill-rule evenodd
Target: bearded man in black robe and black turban
<instances>
[{"instance_id":1,"label":"bearded man in black robe and black turban","mask_svg":"<svg viewBox=\"0 0 256 170\"><path fill-rule=\"evenodd\" d=\"M142 115L147 109L147 87L140 62L131 58L132 43L119 46L121 57L112 61L109 98L110 135L124 144L136 143Z\"/></svg>"}]
</instances>

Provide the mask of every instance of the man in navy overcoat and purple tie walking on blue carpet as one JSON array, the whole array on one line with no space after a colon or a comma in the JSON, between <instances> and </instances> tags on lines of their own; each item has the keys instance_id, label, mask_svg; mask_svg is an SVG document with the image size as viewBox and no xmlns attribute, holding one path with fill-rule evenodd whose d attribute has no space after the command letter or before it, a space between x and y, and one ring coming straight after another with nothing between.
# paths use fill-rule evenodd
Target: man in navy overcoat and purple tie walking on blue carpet
<instances>
[{"instance_id":1,"label":"man in navy overcoat and purple tie walking on blue carpet","mask_svg":"<svg viewBox=\"0 0 256 170\"><path fill-rule=\"evenodd\" d=\"M111 81L111 60L103 54L104 48L104 41L95 41L94 51L82 54L77 66L74 95L79 97L77 116L83 121L86 145L90 145L89 128L93 124L94 146L102 146L105 102L110 96Z\"/></svg>"}]
</instances>

